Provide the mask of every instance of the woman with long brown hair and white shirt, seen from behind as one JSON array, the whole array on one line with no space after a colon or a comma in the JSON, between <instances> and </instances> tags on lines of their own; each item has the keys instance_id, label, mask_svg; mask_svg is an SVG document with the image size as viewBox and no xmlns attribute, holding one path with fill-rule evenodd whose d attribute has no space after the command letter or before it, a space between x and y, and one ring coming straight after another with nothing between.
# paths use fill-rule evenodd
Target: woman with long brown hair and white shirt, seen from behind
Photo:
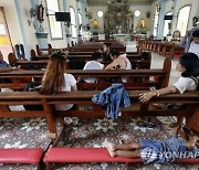
<instances>
[{"instance_id":1,"label":"woman with long brown hair and white shirt, seen from behind","mask_svg":"<svg viewBox=\"0 0 199 170\"><path fill-rule=\"evenodd\" d=\"M42 86L39 91L42 95L54 95L61 92L77 91L76 79L72 74L67 74L65 67L66 53L53 53L49 60L46 71L43 76ZM56 110L69 110L73 104L55 105Z\"/></svg>"}]
</instances>

